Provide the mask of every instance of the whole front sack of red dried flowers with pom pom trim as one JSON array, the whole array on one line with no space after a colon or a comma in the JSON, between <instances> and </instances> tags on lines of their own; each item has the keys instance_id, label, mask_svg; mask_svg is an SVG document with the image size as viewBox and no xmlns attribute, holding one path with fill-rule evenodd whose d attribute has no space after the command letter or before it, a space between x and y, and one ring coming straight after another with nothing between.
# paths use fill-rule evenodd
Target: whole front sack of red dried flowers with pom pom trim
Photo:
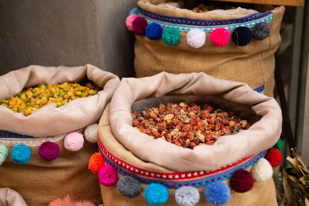
<instances>
[{"instance_id":1,"label":"whole front sack of red dried flowers with pom pom trim","mask_svg":"<svg viewBox=\"0 0 309 206\"><path fill-rule=\"evenodd\" d=\"M245 83L205 73L124 78L89 168L106 206L276 206L281 123L276 101Z\"/></svg>"}]
</instances>

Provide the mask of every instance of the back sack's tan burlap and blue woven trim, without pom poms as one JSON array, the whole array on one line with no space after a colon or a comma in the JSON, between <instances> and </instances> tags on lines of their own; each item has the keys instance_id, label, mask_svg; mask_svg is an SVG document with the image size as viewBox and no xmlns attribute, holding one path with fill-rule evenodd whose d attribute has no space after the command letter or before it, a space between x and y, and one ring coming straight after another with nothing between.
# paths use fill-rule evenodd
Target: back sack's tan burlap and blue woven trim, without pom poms
<instances>
[{"instance_id":1,"label":"back sack's tan burlap and blue woven trim, without pom poms","mask_svg":"<svg viewBox=\"0 0 309 206\"><path fill-rule=\"evenodd\" d=\"M213 14L156 6L165 1L138 1L138 15L146 18L149 24L160 24L163 30L167 27L177 28L181 40L177 45L169 46L161 39L152 41L145 35L136 36L134 65L138 78L162 71L173 74L205 72L219 79L245 82L253 89L264 90L267 96L273 95L274 52L281 42L279 29L284 13L283 6L265 13L249 15ZM259 22L268 22L271 28L270 36L262 41L252 39L246 46L237 46L231 38L223 47L210 42L210 32L213 29L226 28L232 35L237 26L252 28ZM200 48L190 47L187 43L187 33L193 28L199 28L206 33L206 43Z\"/></svg>"}]
</instances>

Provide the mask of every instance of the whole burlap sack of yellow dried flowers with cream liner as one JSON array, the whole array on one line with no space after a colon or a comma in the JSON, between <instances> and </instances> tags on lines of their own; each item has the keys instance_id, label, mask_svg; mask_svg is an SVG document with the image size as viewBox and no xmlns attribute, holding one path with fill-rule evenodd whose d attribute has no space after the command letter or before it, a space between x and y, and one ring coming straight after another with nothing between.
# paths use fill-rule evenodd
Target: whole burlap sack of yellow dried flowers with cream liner
<instances>
[{"instance_id":1,"label":"whole burlap sack of yellow dried flowers with cream liner","mask_svg":"<svg viewBox=\"0 0 309 206\"><path fill-rule=\"evenodd\" d=\"M30 66L0 76L0 187L14 189L29 206L68 194L101 202L88 161L118 83L89 64Z\"/></svg>"}]
</instances>

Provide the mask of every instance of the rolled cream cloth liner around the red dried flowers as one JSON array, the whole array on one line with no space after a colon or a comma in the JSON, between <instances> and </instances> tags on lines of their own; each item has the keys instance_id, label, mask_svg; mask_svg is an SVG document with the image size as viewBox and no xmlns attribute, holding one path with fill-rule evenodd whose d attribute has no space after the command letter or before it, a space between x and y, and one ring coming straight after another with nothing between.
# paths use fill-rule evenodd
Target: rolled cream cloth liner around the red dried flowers
<instances>
[{"instance_id":1,"label":"rolled cream cloth liner around the red dried flowers","mask_svg":"<svg viewBox=\"0 0 309 206\"><path fill-rule=\"evenodd\" d=\"M263 116L248 130L222 136L214 145L193 150L153 139L132 126L134 101L164 94L217 95L252 106ZM282 116L277 102L253 91L247 84L219 80L205 73L173 75L161 72L141 79L123 78L111 100L110 123L116 139L144 161L175 171L216 170L272 147L280 137Z\"/></svg>"}]
</instances>

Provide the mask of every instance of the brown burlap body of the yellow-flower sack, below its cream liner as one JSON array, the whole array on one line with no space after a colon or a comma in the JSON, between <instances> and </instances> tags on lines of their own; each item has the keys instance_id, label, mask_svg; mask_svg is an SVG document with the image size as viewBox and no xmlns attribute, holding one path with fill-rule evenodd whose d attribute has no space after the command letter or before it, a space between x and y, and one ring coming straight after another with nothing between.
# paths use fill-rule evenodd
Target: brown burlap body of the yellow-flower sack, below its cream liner
<instances>
[{"instance_id":1,"label":"brown burlap body of the yellow-flower sack, below its cream liner","mask_svg":"<svg viewBox=\"0 0 309 206\"><path fill-rule=\"evenodd\" d=\"M83 129L77 130L83 134ZM41 138L0 138L0 144L8 151L16 144L23 143L31 149L31 159L25 165L13 163L10 155L0 166L0 187L16 190L29 206L48 206L50 201L71 197L101 202L100 186L97 175L88 169L91 155L98 151L96 144L84 142L77 152L65 149L63 139L66 134ZM60 146L61 153L53 161L39 157L39 146L46 141Z\"/></svg>"}]
</instances>

